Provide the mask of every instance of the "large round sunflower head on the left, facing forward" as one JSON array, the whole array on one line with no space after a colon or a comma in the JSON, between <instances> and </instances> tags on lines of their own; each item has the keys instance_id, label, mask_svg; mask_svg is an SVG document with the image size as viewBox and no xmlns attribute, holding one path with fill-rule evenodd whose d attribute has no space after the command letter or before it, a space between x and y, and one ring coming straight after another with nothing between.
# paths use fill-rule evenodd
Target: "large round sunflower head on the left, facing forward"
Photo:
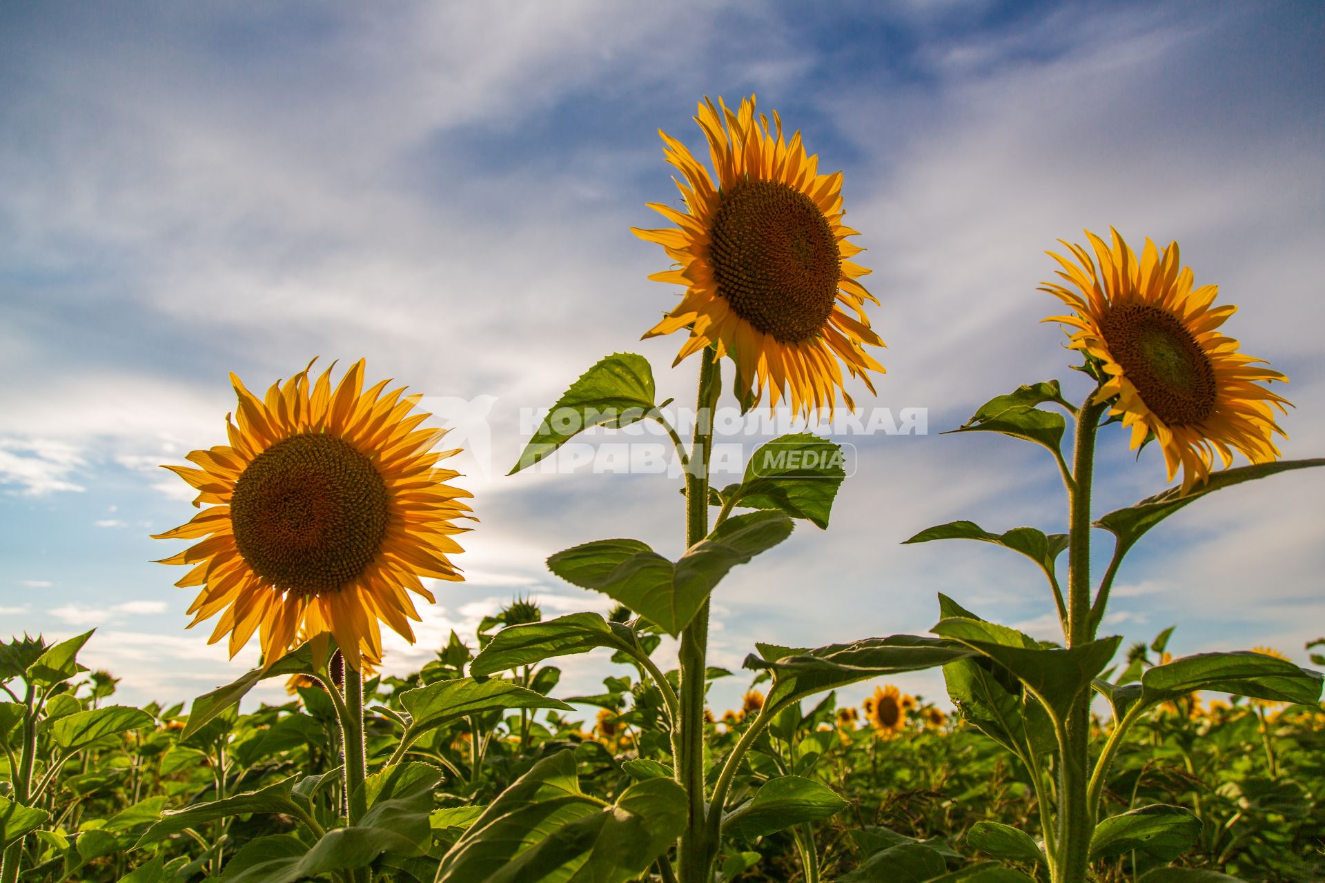
<instances>
[{"instance_id":1,"label":"large round sunflower head on the left, facing forward","mask_svg":"<svg viewBox=\"0 0 1325 883\"><path fill-rule=\"evenodd\" d=\"M420 577L464 579L447 557L460 552L453 522L469 518L469 491L437 469L457 451L433 451L445 430L419 429L421 395L363 389L363 360L331 388L331 368L309 384L313 364L258 398L231 375L238 408L227 416L229 445L196 450L201 469L167 466L197 488L193 520L156 539L201 543L163 564L189 564L175 585L203 586L189 627L220 614L209 643L229 634L238 653L260 631L264 665L331 634L362 671L382 659L386 622L413 642L419 620L407 589L431 604ZM325 639L325 638L322 638Z\"/></svg>"}]
</instances>

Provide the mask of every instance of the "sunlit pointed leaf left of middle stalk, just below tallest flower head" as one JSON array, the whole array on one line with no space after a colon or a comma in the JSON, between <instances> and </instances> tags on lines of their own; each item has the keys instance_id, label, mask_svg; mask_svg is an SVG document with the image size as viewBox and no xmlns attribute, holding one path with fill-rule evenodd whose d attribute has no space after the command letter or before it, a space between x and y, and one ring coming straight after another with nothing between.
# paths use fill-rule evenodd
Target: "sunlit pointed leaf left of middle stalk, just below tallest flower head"
<instances>
[{"instance_id":1,"label":"sunlit pointed leaf left of middle stalk, just below tallest flower head","mask_svg":"<svg viewBox=\"0 0 1325 883\"><path fill-rule=\"evenodd\" d=\"M514 475L556 451L594 426L617 429L644 420L653 410L653 369L644 356L617 352L586 371L553 405L507 475Z\"/></svg>"}]
</instances>

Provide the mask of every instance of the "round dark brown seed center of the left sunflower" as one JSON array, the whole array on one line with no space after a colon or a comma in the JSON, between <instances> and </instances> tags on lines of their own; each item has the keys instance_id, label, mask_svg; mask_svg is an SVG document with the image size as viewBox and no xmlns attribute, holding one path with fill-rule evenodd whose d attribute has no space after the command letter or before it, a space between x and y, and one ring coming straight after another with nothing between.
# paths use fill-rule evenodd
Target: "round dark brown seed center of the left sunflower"
<instances>
[{"instance_id":1,"label":"round dark brown seed center of the left sunflower","mask_svg":"<svg viewBox=\"0 0 1325 883\"><path fill-rule=\"evenodd\" d=\"M387 530L387 486L348 442L292 436L258 454L231 496L235 544L278 589L335 592L363 573Z\"/></svg>"}]
</instances>

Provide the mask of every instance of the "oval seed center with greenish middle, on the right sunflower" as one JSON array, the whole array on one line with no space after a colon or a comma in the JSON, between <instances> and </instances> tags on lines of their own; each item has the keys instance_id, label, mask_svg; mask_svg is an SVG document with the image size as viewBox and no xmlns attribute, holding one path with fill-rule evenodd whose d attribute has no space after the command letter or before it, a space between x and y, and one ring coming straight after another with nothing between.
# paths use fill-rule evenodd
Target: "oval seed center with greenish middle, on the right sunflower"
<instances>
[{"instance_id":1,"label":"oval seed center with greenish middle, on the right sunflower","mask_svg":"<svg viewBox=\"0 0 1325 883\"><path fill-rule=\"evenodd\" d=\"M1141 401L1159 420L1196 424L1215 409L1210 356L1173 312L1141 303L1116 307L1100 330Z\"/></svg>"}]
</instances>

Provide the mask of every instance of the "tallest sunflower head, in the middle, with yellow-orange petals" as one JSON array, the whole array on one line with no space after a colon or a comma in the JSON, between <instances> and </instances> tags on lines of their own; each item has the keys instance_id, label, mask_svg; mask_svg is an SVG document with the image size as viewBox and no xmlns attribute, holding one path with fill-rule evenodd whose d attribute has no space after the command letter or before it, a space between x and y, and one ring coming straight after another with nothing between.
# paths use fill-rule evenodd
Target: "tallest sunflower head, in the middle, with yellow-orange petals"
<instances>
[{"instance_id":1,"label":"tallest sunflower head, in the middle, with yellow-orange petals","mask_svg":"<svg viewBox=\"0 0 1325 883\"><path fill-rule=\"evenodd\" d=\"M677 267L651 279L685 286L685 295L644 336L689 328L676 361L713 346L730 356L737 391L753 404L768 391L798 414L832 410L836 391L847 406L837 360L871 392L867 371L882 372L864 346L882 347L869 330L865 301L878 301L857 279L869 270L849 261L863 249L847 242L857 232L841 222L841 172L820 175L818 155L806 155L798 131L786 140L782 120L761 114L754 97L731 113L718 99L698 106L714 177L689 150L665 132L664 151L685 183L677 188L688 212L651 203L676 228L636 236L661 245ZM845 308L844 308L845 307Z\"/></svg>"}]
</instances>

